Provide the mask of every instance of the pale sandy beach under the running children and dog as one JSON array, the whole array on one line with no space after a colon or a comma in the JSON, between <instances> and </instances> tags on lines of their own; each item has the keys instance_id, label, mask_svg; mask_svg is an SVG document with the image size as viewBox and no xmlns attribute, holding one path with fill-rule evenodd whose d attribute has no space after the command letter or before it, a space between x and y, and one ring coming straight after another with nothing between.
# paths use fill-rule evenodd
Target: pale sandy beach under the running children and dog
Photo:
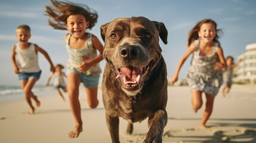
<instances>
[{"instance_id":1,"label":"pale sandy beach under the running children and dog","mask_svg":"<svg viewBox=\"0 0 256 143\"><path fill-rule=\"evenodd\" d=\"M164 129L163 142L256 142L256 85L233 85L229 98L221 93L214 102L214 111L207 122L208 129L199 127L204 106L194 113L189 86L169 86L168 123ZM34 115L29 114L26 101L0 102L1 143L41 142L111 142L105 121L105 110L101 89L98 90L100 104L96 109L87 105L84 90L80 90L84 131L78 138L69 139L67 133L73 129L74 119L67 99L59 95L39 97L41 106ZM205 98L203 98L205 103ZM120 119L121 142L143 142L148 131L147 120L134 124L132 135L126 135L127 121Z\"/></svg>"}]
</instances>

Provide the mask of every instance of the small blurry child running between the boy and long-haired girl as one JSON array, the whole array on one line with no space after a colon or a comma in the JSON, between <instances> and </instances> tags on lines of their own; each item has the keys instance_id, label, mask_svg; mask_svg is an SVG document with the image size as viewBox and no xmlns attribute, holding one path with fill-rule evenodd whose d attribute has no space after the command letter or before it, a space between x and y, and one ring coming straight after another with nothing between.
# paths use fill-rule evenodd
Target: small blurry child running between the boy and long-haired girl
<instances>
[{"instance_id":1,"label":"small blurry child running between the boy and long-haired girl","mask_svg":"<svg viewBox=\"0 0 256 143\"><path fill-rule=\"evenodd\" d=\"M63 99L63 101L66 101L60 91L61 88L64 92L67 92L66 83L64 80L64 77L67 76L63 71L61 71L62 69L64 69L64 66L61 64L57 64L55 66L55 72L48 78L46 86L49 85L51 78L54 77L53 85L55 86L55 89L58 91L58 94L60 94L60 97Z\"/></svg>"}]
</instances>

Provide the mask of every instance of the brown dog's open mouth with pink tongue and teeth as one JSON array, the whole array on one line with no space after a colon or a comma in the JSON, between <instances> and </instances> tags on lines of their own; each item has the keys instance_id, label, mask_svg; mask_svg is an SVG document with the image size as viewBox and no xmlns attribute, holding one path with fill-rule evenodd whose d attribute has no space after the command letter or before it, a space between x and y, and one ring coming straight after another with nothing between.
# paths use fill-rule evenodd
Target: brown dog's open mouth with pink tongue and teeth
<instances>
[{"instance_id":1,"label":"brown dog's open mouth with pink tongue and teeth","mask_svg":"<svg viewBox=\"0 0 256 143\"><path fill-rule=\"evenodd\" d=\"M110 64L112 64L110 62ZM124 83L124 88L128 90L135 90L138 89L138 85L140 85L141 81L143 81L144 77L146 76L147 71L149 71L150 67L153 64L153 60L150 61L149 64L145 67L122 67L116 68L113 66L113 69L116 73L116 79L120 78L121 81Z\"/></svg>"}]
</instances>

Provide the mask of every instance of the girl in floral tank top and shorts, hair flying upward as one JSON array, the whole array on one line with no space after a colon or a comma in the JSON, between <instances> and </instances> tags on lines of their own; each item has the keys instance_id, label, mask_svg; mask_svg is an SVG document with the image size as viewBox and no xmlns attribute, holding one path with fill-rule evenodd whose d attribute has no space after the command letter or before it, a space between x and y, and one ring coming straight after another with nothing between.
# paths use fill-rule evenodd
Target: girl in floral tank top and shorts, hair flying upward
<instances>
[{"instance_id":1,"label":"girl in floral tank top and shorts, hair flying upward","mask_svg":"<svg viewBox=\"0 0 256 143\"><path fill-rule=\"evenodd\" d=\"M77 138L82 132L81 106L79 101L79 85L84 83L87 103L90 108L98 105L98 79L101 69L99 62L103 60L103 45L95 35L87 33L97 22L98 14L87 5L72 2L50 0L52 6L46 6L50 26L54 29L69 30L63 36L67 54L67 93L70 108L75 118L75 127L68 133L69 138ZM99 54L97 54L97 51Z\"/></svg>"}]
</instances>

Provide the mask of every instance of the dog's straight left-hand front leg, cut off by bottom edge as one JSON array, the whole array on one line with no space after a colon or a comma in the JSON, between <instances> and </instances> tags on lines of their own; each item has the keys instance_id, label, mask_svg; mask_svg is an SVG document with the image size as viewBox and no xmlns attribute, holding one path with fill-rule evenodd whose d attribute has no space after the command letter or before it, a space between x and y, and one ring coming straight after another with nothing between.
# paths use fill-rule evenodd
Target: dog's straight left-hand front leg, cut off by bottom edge
<instances>
[{"instance_id":1,"label":"dog's straight left-hand front leg, cut off by bottom edge","mask_svg":"<svg viewBox=\"0 0 256 143\"><path fill-rule=\"evenodd\" d=\"M119 117L111 117L106 113L107 128L113 143L119 143Z\"/></svg>"}]
</instances>

